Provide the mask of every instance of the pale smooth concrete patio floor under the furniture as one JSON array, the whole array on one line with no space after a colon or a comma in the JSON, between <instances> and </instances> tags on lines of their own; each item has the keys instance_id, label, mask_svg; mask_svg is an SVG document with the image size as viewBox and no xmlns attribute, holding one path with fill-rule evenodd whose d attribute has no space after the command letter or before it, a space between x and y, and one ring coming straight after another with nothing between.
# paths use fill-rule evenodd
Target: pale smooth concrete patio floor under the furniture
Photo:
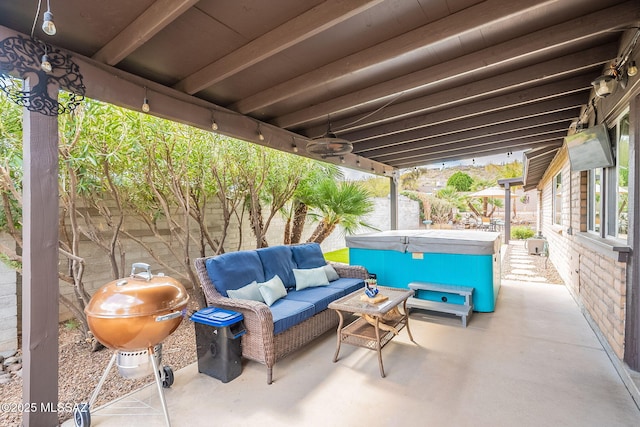
<instances>
[{"instance_id":1,"label":"pale smooth concrete patio floor under the furniture","mask_svg":"<svg viewBox=\"0 0 640 427\"><path fill-rule=\"evenodd\" d=\"M562 285L502 281L496 310L456 318L413 311L411 330L376 353L335 332L274 368L244 362L223 384L193 364L165 391L179 426L638 426L640 410ZM637 393L637 390L635 391ZM98 408L91 426L163 426L155 385ZM73 425L70 420L65 425Z\"/></svg>"}]
</instances>

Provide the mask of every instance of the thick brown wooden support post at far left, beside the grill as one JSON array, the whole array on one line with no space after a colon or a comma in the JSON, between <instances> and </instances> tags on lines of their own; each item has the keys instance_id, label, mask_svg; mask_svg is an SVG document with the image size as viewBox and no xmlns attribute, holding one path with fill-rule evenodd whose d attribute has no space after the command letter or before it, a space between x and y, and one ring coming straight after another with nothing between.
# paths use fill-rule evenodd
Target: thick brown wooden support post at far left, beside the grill
<instances>
[{"instance_id":1,"label":"thick brown wooden support post at far left, beside the grill","mask_svg":"<svg viewBox=\"0 0 640 427\"><path fill-rule=\"evenodd\" d=\"M23 127L23 425L57 426L58 119L25 109Z\"/></svg>"}]
</instances>

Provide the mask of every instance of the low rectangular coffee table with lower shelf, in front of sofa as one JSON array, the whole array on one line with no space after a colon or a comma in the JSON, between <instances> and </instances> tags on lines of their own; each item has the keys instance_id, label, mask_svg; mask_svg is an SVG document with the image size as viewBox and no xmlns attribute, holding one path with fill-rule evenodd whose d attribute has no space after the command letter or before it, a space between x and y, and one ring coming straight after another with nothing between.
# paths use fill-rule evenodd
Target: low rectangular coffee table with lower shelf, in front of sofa
<instances>
[{"instance_id":1,"label":"low rectangular coffee table with lower shelf, in front of sofa","mask_svg":"<svg viewBox=\"0 0 640 427\"><path fill-rule=\"evenodd\" d=\"M361 296L364 295L363 290L355 291L345 297L340 298L329 304L329 308L336 310L340 317L338 324L338 340L336 346L336 354L333 361L338 361L340 353L340 345L342 343L355 345L358 347L376 350L378 352L378 364L380 365L380 376L385 377L384 367L382 365L382 347L387 345L389 341L396 335L392 330L386 330L391 327L395 331L400 332L405 326L407 333L412 342L413 336L409 329L409 314L407 312L407 299L413 296L412 289L398 289L380 286L379 294L388 297L387 300L373 304L369 301L362 301ZM402 312L393 310L402 304ZM361 315L369 315L373 318L373 325L364 319L363 316L344 326L343 313L359 313ZM382 322L384 318L384 322ZM381 323L385 330L381 329Z\"/></svg>"}]
</instances>

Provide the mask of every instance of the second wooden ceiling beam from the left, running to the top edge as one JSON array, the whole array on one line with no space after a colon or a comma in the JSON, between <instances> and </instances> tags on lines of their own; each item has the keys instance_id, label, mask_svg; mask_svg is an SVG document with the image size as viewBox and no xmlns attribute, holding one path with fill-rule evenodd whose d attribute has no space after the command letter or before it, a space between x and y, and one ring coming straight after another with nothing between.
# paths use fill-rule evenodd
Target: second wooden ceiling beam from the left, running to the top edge
<instances>
[{"instance_id":1,"label":"second wooden ceiling beam from the left, running to the top edge","mask_svg":"<svg viewBox=\"0 0 640 427\"><path fill-rule=\"evenodd\" d=\"M194 94L316 34L376 6L383 0L327 0L247 43L174 85Z\"/></svg>"}]
</instances>

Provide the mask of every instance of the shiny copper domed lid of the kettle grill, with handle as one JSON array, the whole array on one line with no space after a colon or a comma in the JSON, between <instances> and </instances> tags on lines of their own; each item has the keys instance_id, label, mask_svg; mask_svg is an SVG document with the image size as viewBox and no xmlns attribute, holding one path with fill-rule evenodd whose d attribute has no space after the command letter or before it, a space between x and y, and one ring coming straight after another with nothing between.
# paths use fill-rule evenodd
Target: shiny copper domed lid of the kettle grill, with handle
<instances>
[{"instance_id":1,"label":"shiny copper domed lid of the kettle grill, with handle","mask_svg":"<svg viewBox=\"0 0 640 427\"><path fill-rule=\"evenodd\" d=\"M145 271L136 273L136 268ZM136 263L130 277L98 289L84 311L97 318L141 317L182 309L188 300L180 282L162 274L152 275L148 264Z\"/></svg>"}]
</instances>

